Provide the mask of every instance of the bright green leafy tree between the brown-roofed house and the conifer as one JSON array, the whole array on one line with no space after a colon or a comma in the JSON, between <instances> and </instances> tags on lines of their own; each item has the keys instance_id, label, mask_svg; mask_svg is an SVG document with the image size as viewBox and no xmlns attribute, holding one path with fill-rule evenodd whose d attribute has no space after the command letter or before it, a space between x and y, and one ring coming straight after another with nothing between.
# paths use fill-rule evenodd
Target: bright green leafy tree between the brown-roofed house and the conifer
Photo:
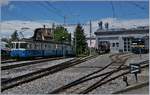
<instances>
[{"instance_id":1,"label":"bright green leafy tree between the brown-roofed house and the conifer","mask_svg":"<svg viewBox=\"0 0 150 95\"><path fill-rule=\"evenodd\" d=\"M62 26L56 27L54 29L54 40L61 42L61 41L66 41L66 42L71 42L71 34L68 33L67 29L65 29Z\"/></svg>"}]
</instances>

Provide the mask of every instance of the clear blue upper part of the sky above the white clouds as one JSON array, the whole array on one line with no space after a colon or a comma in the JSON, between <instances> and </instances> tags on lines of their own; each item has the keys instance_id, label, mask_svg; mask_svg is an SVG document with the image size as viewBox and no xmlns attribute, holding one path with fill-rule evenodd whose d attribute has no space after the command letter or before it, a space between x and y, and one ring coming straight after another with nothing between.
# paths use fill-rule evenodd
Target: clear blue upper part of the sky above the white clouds
<instances>
[{"instance_id":1,"label":"clear blue upper part of the sky above the white clouds","mask_svg":"<svg viewBox=\"0 0 150 95\"><path fill-rule=\"evenodd\" d=\"M145 19L148 1L11 1L1 8L2 21L64 21L85 23L103 18ZM113 11L114 10L114 11ZM113 15L114 14L114 15Z\"/></svg>"}]
</instances>

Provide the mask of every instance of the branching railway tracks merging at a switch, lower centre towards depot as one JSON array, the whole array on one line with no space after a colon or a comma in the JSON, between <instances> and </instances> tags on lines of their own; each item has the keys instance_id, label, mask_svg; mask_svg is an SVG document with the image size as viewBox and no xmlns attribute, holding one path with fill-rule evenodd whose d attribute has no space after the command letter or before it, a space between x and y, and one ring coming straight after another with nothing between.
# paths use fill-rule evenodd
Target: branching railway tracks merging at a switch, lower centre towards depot
<instances>
[{"instance_id":1,"label":"branching railway tracks merging at a switch, lower centre towards depot","mask_svg":"<svg viewBox=\"0 0 150 95\"><path fill-rule=\"evenodd\" d=\"M93 72L93 73L90 73L86 76L83 76L67 85L64 85L62 87L59 87L51 92L49 92L48 94L58 94L58 93L66 93L68 89L73 89L73 87L77 86L77 85L80 85L84 82L87 82L89 80L92 80L92 79L95 79L95 78L99 78L99 77L102 77L98 82L94 83L93 85L89 86L87 89L85 89L84 91L80 91L80 92L77 92L78 94L87 94L88 92L96 89L99 84L104 81L105 79L107 79L109 76L111 76L112 74L116 73L116 72L119 72L120 70L125 70L125 69L128 69L129 67L128 66L124 66L126 60L130 57L131 54L125 54L125 55L121 55L121 54L117 54L116 56L111 56L111 57L114 57L112 59L116 59L116 62L114 62L114 60L104 66L103 68ZM117 64L120 64L117 68L111 70L111 71L108 71L108 72L105 72L105 73L100 73L101 71L105 70L106 68L112 66L112 64L114 63L117 63ZM97 74L97 73L100 73L98 75L95 75L94 74ZM103 77L104 76L104 77ZM98 86L97 86L98 85ZM78 88L80 89L80 87ZM67 92L67 93L76 93L75 91L72 91L72 92Z\"/></svg>"}]
</instances>

